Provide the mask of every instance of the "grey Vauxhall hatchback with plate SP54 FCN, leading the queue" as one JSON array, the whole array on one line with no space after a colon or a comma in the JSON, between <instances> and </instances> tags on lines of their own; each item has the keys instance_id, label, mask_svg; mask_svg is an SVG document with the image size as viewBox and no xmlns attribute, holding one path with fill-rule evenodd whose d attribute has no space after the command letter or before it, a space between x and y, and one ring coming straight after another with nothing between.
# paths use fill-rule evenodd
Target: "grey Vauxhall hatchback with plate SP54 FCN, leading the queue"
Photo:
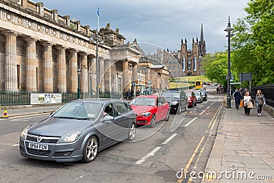
<instances>
[{"instance_id":1,"label":"grey Vauxhall hatchback with plate SP54 FCN, leading the queue","mask_svg":"<svg viewBox=\"0 0 274 183\"><path fill-rule=\"evenodd\" d=\"M25 127L20 154L56 162L92 162L99 151L119 141L133 141L135 135L136 114L127 102L79 99Z\"/></svg>"}]
</instances>

